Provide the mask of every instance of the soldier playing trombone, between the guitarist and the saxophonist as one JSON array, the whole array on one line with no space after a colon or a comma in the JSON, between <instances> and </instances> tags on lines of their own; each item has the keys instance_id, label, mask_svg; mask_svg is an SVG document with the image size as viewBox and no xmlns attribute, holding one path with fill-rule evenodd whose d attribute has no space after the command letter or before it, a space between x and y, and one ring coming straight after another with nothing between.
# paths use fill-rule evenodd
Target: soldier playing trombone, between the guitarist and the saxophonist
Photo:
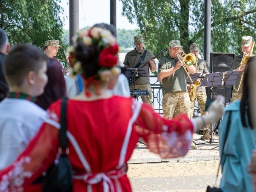
<instances>
[{"instance_id":1,"label":"soldier playing trombone, between the guitarist and the saxophonist","mask_svg":"<svg viewBox=\"0 0 256 192\"><path fill-rule=\"evenodd\" d=\"M190 101L186 86L187 73L181 66L177 55L180 55L180 41L172 40L169 43L169 54L159 60L158 76L163 78L163 113L164 117L172 119L175 115L186 113L190 117ZM180 57L183 62L183 58ZM188 72L195 73L194 66L187 66Z\"/></svg>"}]
</instances>

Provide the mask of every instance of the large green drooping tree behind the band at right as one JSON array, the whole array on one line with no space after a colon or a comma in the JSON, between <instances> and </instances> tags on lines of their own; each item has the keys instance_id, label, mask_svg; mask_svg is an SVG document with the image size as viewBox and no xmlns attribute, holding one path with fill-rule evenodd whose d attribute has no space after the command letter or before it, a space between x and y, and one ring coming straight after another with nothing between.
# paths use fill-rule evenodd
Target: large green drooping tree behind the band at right
<instances>
[{"instance_id":1,"label":"large green drooping tree behind the band at right","mask_svg":"<svg viewBox=\"0 0 256 192\"><path fill-rule=\"evenodd\" d=\"M157 53L179 39L188 53L192 43L204 43L204 1L120 0L123 15L135 19L148 49ZM211 46L213 52L241 52L242 36L256 37L256 2L212 0ZM232 50L231 50L232 48Z\"/></svg>"}]
</instances>

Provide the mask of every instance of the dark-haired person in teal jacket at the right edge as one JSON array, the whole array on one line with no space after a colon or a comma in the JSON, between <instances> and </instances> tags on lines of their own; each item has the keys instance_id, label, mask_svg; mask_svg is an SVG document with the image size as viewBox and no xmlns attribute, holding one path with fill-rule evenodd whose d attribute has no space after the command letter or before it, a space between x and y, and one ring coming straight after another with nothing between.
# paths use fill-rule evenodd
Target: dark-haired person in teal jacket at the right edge
<instances>
[{"instance_id":1,"label":"dark-haired person in teal jacket at the right edge","mask_svg":"<svg viewBox=\"0 0 256 192\"><path fill-rule=\"evenodd\" d=\"M220 188L223 192L253 191L253 182L251 174L248 173L248 164L252 151L256 148L255 81L256 57L252 57L248 60L244 69L242 98L232 102L224 109L219 128L222 172Z\"/></svg>"}]
</instances>

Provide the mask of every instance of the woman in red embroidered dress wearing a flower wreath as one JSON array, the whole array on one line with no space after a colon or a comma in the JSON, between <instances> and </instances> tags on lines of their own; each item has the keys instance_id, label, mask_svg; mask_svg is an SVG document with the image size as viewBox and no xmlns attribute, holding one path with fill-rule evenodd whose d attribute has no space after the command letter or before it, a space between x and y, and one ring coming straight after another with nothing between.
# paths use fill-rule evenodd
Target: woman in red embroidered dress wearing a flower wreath
<instances>
[{"instance_id":1,"label":"woman in red embroidered dress wearing a flower wreath","mask_svg":"<svg viewBox=\"0 0 256 192\"><path fill-rule=\"evenodd\" d=\"M162 158L185 156L193 132L219 118L223 97L208 115L193 120L179 115L164 119L151 106L133 98L110 95L120 73L118 46L109 30L93 27L74 37L69 49L72 74L81 74L84 92L67 103L67 137L73 171L73 191L132 191L126 175L127 161L140 137ZM0 191L40 191L33 185L56 159L60 146L61 100L48 109L39 132L18 159L0 172Z\"/></svg>"}]
</instances>

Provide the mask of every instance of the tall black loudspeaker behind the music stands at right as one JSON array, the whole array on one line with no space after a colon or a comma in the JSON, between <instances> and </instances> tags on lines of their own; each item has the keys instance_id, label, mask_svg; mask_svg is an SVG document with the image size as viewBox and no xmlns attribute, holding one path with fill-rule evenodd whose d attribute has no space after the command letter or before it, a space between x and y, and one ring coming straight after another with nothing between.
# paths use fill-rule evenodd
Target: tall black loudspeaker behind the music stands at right
<instances>
[{"instance_id":1,"label":"tall black loudspeaker behind the music stands at right","mask_svg":"<svg viewBox=\"0 0 256 192\"><path fill-rule=\"evenodd\" d=\"M210 54L210 73L229 71L232 60L235 58L234 53L215 53ZM212 87L213 92L217 95L223 95L226 102L231 99L232 86L217 86ZM207 96L213 97L213 93L210 95L208 92Z\"/></svg>"}]
</instances>

